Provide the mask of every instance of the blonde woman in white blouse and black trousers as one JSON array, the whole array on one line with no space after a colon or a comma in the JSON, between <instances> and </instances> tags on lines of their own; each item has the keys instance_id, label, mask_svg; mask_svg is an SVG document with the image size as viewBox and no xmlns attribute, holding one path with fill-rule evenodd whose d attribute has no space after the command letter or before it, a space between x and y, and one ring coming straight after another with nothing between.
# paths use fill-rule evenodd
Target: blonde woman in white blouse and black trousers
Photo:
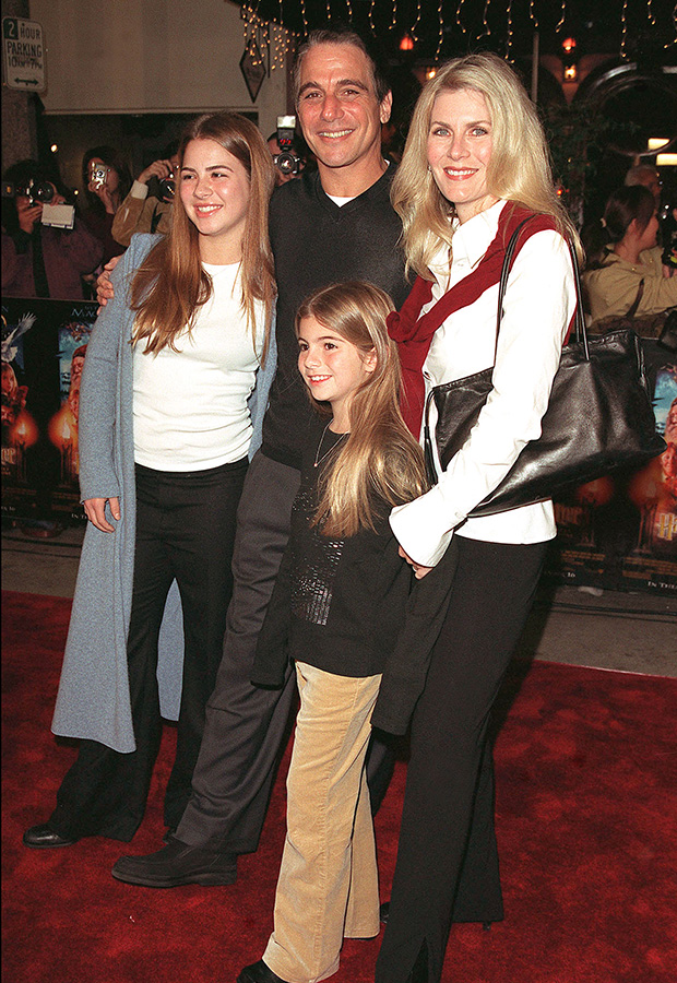
<instances>
[{"instance_id":1,"label":"blonde woman in white blouse and black trousers","mask_svg":"<svg viewBox=\"0 0 677 983\"><path fill-rule=\"evenodd\" d=\"M413 431L431 387L494 365L494 389L466 442L446 469L436 462L437 485L390 519L416 578L430 577L431 590L437 579L444 604L413 715L376 979L437 983L452 921L502 917L487 723L556 529L551 501L471 513L539 434L574 312L565 235L575 235L555 196L535 107L494 55L449 62L426 85L392 200L418 274L391 325ZM527 215L496 347L503 254ZM377 707L376 725L387 709Z\"/></svg>"}]
</instances>

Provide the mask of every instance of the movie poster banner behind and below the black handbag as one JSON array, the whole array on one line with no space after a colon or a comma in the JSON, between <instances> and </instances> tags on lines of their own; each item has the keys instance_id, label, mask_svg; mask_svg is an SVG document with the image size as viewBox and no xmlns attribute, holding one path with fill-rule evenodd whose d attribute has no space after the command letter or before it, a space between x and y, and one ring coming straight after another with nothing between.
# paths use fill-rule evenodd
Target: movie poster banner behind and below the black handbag
<instances>
[{"instance_id":1,"label":"movie poster banner behind and below the black handbag","mask_svg":"<svg viewBox=\"0 0 677 983\"><path fill-rule=\"evenodd\" d=\"M555 502L548 572L608 590L677 592L677 362L643 340L656 430L667 449L639 471L602 477Z\"/></svg>"}]
</instances>

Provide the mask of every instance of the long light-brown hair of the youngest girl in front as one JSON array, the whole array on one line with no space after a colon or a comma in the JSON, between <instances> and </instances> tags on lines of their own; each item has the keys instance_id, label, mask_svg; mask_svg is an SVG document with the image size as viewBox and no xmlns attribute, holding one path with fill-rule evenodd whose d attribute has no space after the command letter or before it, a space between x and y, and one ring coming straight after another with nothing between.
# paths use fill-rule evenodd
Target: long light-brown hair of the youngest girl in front
<instances>
[{"instance_id":1,"label":"long light-brown hair of the youngest girl in front","mask_svg":"<svg viewBox=\"0 0 677 983\"><path fill-rule=\"evenodd\" d=\"M376 353L376 368L353 394L351 433L320 478L314 516L322 535L342 538L375 529L378 506L402 505L426 490L423 452L400 413L400 360L388 336L385 318L394 309L383 291L348 281L323 287L301 304L304 318L314 318L363 354ZM312 398L311 398L312 399ZM325 403L316 406L326 413Z\"/></svg>"}]
</instances>

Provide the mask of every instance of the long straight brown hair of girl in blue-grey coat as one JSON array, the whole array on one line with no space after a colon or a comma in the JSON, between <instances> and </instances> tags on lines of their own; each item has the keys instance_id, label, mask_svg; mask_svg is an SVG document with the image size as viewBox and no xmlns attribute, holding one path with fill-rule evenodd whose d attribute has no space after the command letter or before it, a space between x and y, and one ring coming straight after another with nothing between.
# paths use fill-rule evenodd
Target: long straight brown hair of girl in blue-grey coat
<instances>
[{"instance_id":1,"label":"long straight brown hair of girl in blue-grey coat","mask_svg":"<svg viewBox=\"0 0 677 983\"><path fill-rule=\"evenodd\" d=\"M256 341L254 304L262 301L265 342L269 347L270 320L275 295L273 256L268 238L268 206L275 185L269 150L256 126L236 112L209 112L183 131L179 145L182 164L192 140L215 140L236 157L249 177L249 206L242 237L240 265L241 306ZM193 324L198 308L212 295L212 277L202 268L199 233L176 196L169 233L149 252L132 283L131 308L136 311L132 340L145 340L145 352L169 346L186 327Z\"/></svg>"}]
</instances>

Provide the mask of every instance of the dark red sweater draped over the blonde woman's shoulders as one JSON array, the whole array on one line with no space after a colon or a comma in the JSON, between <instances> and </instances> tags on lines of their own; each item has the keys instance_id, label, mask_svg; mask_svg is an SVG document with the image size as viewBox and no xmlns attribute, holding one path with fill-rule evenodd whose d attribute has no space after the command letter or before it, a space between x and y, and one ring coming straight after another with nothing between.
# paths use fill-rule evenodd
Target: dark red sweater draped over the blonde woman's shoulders
<instances>
[{"instance_id":1,"label":"dark red sweater draped over the blonde woman's shoulders","mask_svg":"<svg viewBox=\"0 0 677 983\"><path fill-rule=\"evenodd\" d=\"M399 313L393 311L388 316L388 333L397 342L400 350L403 381L402 415L416 439L420 434L425 401L423 367L432 335L454 310L474 304L485 291L499 282L510 237L520 222L534 214L521 205L508 203L499 216L496 238L472 273L452 286L423 317L419 317L420 311L432 297L432 283L417 276L401 311ZM520 236L514 251L515 258L531 236L544 229L555 228L557 226L550 215L535 215Z\"/></svg>"}]
</instances>

